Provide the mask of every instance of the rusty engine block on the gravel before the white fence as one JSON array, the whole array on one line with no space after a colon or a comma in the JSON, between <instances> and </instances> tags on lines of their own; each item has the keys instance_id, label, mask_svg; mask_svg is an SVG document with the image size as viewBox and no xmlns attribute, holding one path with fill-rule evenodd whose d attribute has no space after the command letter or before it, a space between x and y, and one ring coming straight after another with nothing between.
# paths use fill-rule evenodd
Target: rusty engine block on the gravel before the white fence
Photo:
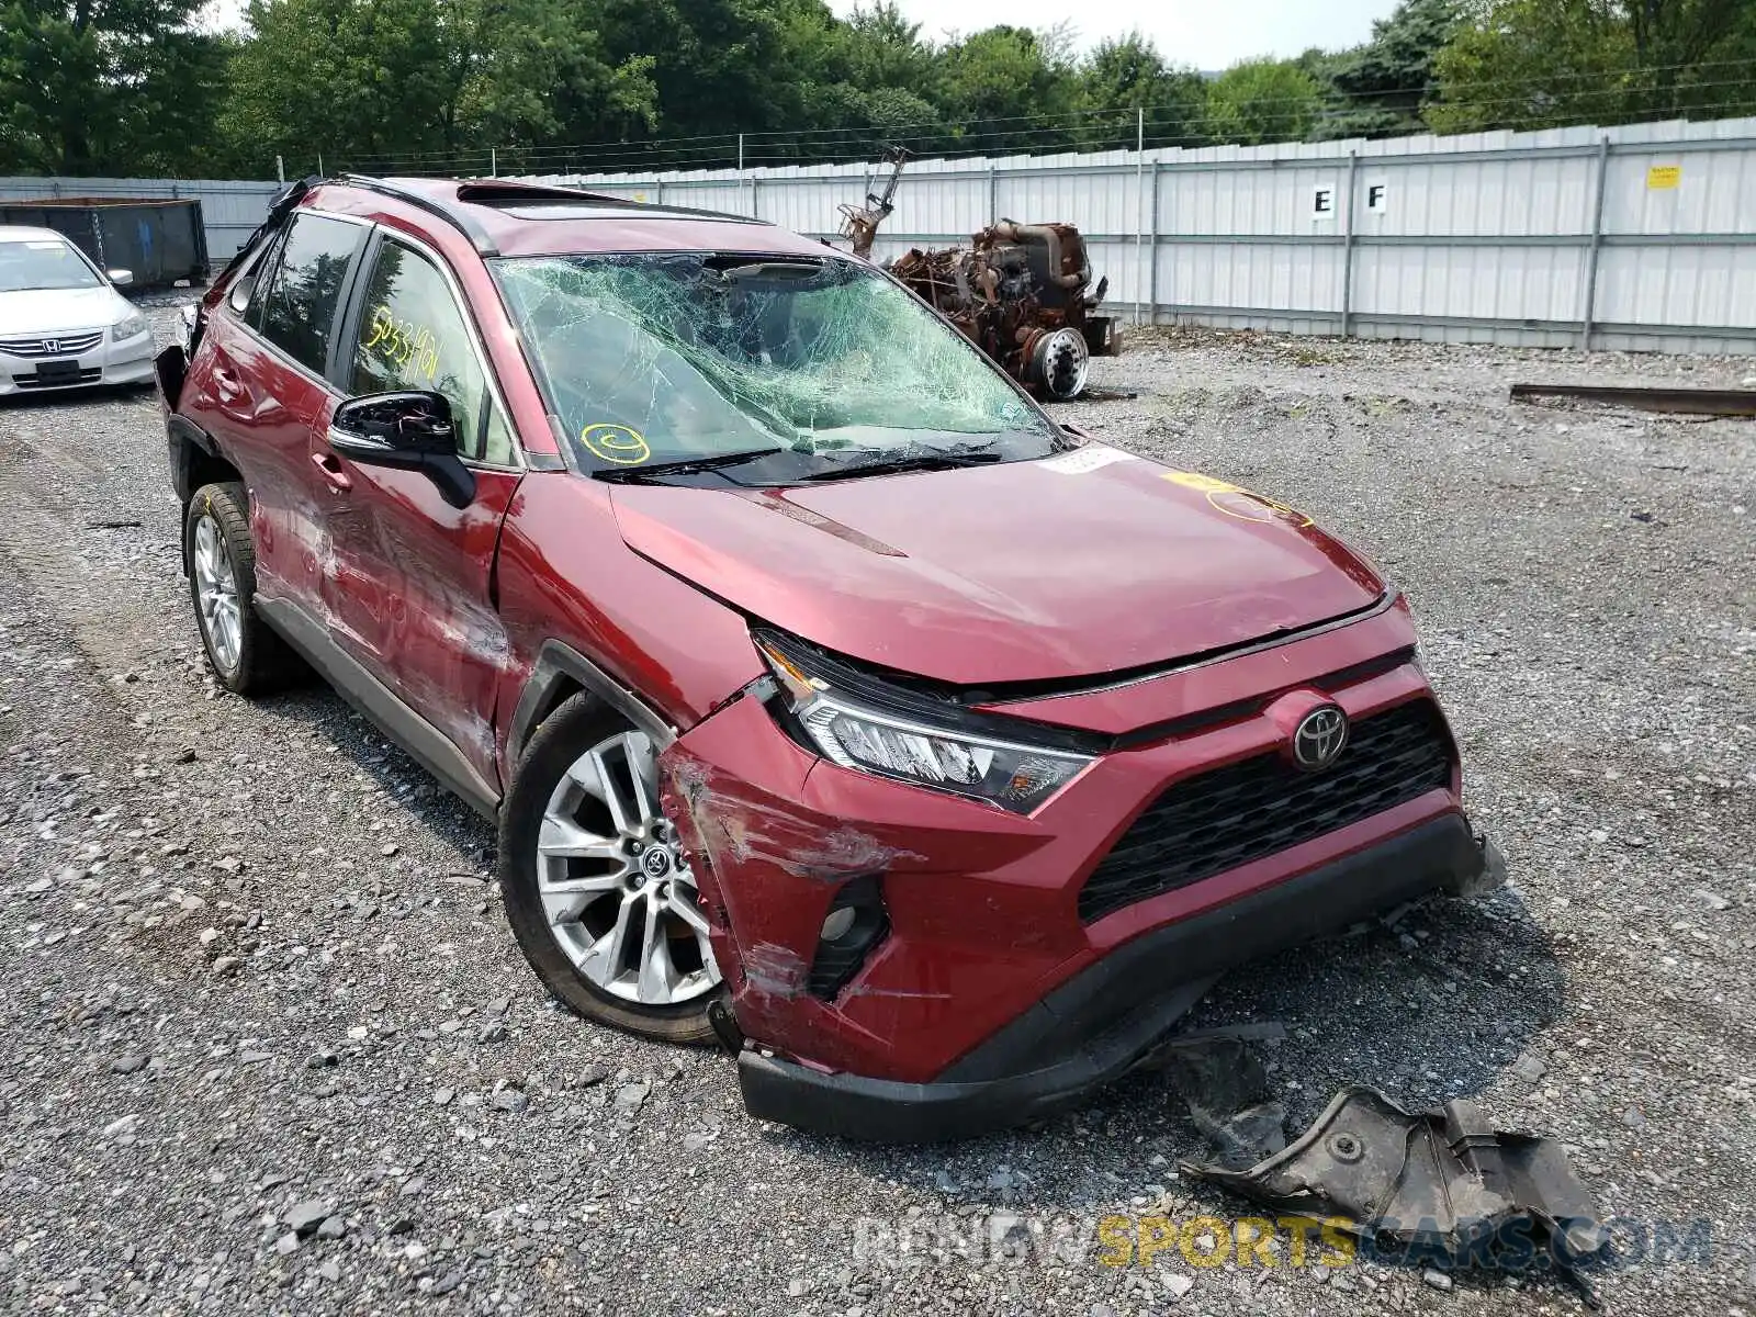
<instances>
[{"instance_id":1,"label":"rusty engine block on the gravel before the white fence","mask_svg":"<svg viewBox=\"0 0 1756 1317\"><path fill-rule=\"evenodd\" d=\"M1115 320L1090 314L1110 281L1090 288L1085 239L1073 225L1001 220L969 248L915 248L890 262L890 274L1043 399L1076 399L1090 358L1122 348Z\"/></svg>"}]
</instances>

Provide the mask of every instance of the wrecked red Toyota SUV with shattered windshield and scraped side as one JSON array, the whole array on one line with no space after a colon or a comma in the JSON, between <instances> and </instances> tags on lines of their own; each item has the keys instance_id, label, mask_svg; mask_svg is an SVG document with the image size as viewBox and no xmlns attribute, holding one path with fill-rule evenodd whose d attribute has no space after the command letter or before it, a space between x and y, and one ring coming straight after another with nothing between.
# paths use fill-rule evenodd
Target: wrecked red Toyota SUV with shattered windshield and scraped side
<instances>
[{"instance_id":1,"label":"wrecked red Toyota SUV with shattered windshield and scraped side","mask_svg":"<svg viewBox=\"0 0 1756 1317\"><path fill-rule=\"evenodd\" d=\"M718 1036L755 1115L1040 1115L1227 966L1503 876L1370 564L822 242L313 181L158 372L218 680L321 673L497 820L544 985Z\"/></svg>"}]
</instances>

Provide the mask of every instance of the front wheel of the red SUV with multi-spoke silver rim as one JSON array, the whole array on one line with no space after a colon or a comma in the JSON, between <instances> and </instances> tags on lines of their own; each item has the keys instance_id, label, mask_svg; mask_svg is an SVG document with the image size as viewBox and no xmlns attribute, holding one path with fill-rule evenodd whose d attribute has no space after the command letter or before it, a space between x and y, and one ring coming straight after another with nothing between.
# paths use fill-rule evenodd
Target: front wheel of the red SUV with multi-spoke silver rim
<instances>
[{"instance_id":1,"label":"front wheel of the red SUV with multi-spoke silver rim","mask_svg":"<svg viewBox=\"0 0 1756 1317\"><path fill-rule=\"evenodd\" d=\"M499 876L520 950L574 1011L667 1043L715 1038L725 987L655 748L592 695L530 739L500 810Z\"/></svg>"}]
</instances>

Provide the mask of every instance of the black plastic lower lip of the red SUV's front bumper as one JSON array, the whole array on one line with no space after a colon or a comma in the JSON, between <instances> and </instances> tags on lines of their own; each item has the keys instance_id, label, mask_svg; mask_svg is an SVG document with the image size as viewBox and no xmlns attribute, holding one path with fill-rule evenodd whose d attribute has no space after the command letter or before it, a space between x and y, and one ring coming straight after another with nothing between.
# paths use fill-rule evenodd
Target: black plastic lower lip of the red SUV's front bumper
<instances>
[{"instance_id":1,"label":"black plastic lower lip of the red SUV's front bumper","mask_svg":"<svg viewBox=\"0 0 1756 1317\"><path fill-rule=\"evenodd\" d=\"M903 1143L1033 1120L1150 1062L1226 969L1433 892L1477 894L1503 878L1491 841L1473 839L1461 815L1436 818L1124 945L929 1083L831 1073L746 1047L745 1106L820 1134Z\"/></svg>"}]
</instances>

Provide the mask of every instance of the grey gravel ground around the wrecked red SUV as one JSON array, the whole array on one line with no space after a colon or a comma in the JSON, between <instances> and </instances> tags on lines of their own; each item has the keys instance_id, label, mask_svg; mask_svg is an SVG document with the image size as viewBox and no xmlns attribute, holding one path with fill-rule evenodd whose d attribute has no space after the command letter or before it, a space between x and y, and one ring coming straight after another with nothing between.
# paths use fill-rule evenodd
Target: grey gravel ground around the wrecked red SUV
<instances>
[{"instance_id":1,"label":"grey gravel ground around the wrecked red SUV","mask_svg":"<svg viewBox=\"0 0 1756 1317\"><path fill-rule=\"evenodd\" d=\"M1623 1313L1756 1308L1756 453L1505 386L1747 374L1140 335L1099 363L1138 397L1066 413L1389 571L1512 866L1194 1024L1282 1020L1298 1127L1363 1082L1558 1134L1626 1222ZM151 397L0 409L0 485L5 1310L1579 1310L1547 1278L1105 1264L1106 1213L1241 1212L1177 1177L1199 1141L1159 1076L952 1148L752 1122L723 1057L544 1001L490 831L339 699L214 690ZM1682 1247L1640 1259L1659 1224Z\"/></svg>"}]
</instances>

